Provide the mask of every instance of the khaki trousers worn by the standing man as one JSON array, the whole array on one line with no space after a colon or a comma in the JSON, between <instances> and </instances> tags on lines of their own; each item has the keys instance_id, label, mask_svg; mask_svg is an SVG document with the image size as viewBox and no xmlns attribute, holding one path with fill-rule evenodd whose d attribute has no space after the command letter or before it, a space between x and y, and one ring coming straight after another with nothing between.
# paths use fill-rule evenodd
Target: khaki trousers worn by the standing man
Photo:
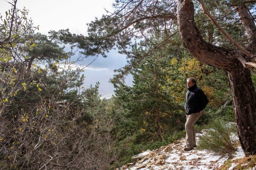
<instances>
[{"instance_id":1,"label":"khaki trousers worn by the standing man","mask_svg":"<svg viewBox=\"0 0 256 170\"><path fill-rule=\"evenodd\" d=\"M194 124L200 118L200 116L200 112L187 115L187 121L185 124L187 147L193 148L194 145L196 145L196 130L194 128Z\"/></svg>"}]
</instances>

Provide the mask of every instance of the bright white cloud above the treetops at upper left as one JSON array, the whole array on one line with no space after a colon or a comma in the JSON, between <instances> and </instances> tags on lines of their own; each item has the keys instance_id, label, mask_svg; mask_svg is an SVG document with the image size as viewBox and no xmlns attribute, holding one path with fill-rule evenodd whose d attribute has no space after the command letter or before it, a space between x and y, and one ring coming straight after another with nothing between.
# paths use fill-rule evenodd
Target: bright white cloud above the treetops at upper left
<instances>
[{"instance_id":1,"label":"bright white cloud above the treetops at upper left","mask_svg":"<svg viewBox=\"0 0 256 170\"><path fill-rule=\"evenodd\" d=\"M0 11L10 9L10 4L1 1ZM112 11L114 0L18 0L17 8L29 10L28 18L34 25L39 25L39 31L46 34L49 30L69 28L72 33L86 34L87 26L95 19L105 14L105 8Z\"/></svg>"}]
</instances>

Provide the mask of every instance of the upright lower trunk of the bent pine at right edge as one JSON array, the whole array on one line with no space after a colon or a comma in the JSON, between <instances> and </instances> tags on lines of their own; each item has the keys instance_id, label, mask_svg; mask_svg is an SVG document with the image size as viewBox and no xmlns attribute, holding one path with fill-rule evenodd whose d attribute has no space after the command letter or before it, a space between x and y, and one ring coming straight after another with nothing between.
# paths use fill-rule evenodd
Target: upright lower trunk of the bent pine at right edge
<instances>
[{"instance_id":1,"label":"upright lower trunk of the bent pine at right edge","mask_svg":"<svg viewBox=\"0 0 256 170\"><path fill-rule=\"evenodd\" d=\"M238 135L245 154L256 154L256 92L251 73L240 65L228 72Z\"/></svg>"}]
</instances>

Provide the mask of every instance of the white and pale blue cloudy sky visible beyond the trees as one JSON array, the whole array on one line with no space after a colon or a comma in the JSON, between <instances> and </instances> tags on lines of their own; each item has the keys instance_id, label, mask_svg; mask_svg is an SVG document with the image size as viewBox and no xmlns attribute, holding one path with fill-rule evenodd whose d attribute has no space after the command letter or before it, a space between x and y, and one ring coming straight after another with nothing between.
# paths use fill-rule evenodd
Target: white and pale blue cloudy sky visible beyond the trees
<instances>
[{"instance_id":1,"label":"white and pale blue cloudy sky visible beyond the trees","mask_svg":"<svg viewBox=\"0 0 256 170\"><path fill-rule=\"evenodd\" d=\"M12 0L7 0L12 2ZM6 0L0 0L0 13L11 8ZM31 18L34 26L39 26L39 32L47 34L49 30L58 31L69 29L71 33L87 35L86 23L101 18L102 14L113 11L114 0L18 0L17 8L25 7L29 10L28 18ZM85 65L95 57L89 57ZM115 51L108 53L107 58L98 57L87 69L85 69L85 84L88 88L91 84L100 82L99 92L103 97L109 98L113 94L113 85L108 83L113 77L113 70L123 67L126 57ZM131 81L131 78L129 78ZM129 84L129 83L128 83Z\"/></svg>"}]
</instances>

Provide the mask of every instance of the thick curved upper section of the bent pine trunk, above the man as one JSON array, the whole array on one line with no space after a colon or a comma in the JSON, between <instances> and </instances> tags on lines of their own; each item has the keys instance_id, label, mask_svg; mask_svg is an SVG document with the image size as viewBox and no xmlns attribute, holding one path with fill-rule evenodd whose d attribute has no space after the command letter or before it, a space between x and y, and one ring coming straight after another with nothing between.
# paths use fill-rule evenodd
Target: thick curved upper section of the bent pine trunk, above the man
<instances>
[{"instance_id":1,"label":"thick curved upper section of the bent pine trunk, above the man","mask_svg":"<svg viewBox=\"0 0 256 170\"><path fill-rule=\"evenodd\" d=\"M194 6L191 0L179 0L177 13L178 29L186 49L199 61L226 71L235 69L236 50L215 46L206 42L194 21Z\"/></svg>"}]
</instances>

